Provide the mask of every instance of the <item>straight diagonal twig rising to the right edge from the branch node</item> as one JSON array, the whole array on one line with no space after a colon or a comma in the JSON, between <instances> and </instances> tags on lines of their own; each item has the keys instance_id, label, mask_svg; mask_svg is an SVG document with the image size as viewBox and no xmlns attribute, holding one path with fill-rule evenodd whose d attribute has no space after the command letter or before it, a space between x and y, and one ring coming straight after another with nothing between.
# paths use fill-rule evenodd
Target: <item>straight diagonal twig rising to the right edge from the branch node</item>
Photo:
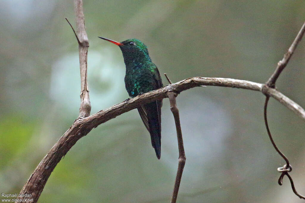
<instances>
[{"instance_id":1,"label":"straight diagonal twig rising to the right edge from the branch node","mask_svg":"<svg viewBox=\"0 0 305 203\"><path fill-rule=\"evenodd\" d=\"M296 38L293 40L293 42L292 42L291 46L289 47L287 53L284 55L284 58L281 61L278 62L278 66L276 67L274 73L271 75L271 77L266 82L266 85L268 87L273 87L273 88L275 87L275 82L278 79L278 76L281 74L281 72L286 67L289 59L291 58L294 50L296 49L296 46L301 41L301 39L304 35L304 32L305 32L305 22L304 22L301 30L297 34Z\"/></svg>"}]
</instances>

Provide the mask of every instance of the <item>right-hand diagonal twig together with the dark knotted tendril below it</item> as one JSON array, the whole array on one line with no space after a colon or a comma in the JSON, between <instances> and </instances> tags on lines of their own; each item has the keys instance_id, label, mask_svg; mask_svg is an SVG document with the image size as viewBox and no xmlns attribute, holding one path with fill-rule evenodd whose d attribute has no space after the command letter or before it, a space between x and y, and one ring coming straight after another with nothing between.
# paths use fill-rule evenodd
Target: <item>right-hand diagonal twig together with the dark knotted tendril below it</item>
<instances>
[{"instance_id":1,"label":"right-hand diagonal twig together with the dark knotted tendril below it","mask_svg":"<svg viewBox=\"0 0 305 203\"><path fill-rule=\"evenodd\" d=\"M275 82L278 79L279 75L281 74L281 72L284 70L284 68L286 67L286 65L289 62L289 59L291 58L293 52L295 51L298 43L300 42L300 40L302 39L303 35L305 32L305 22L303 23L303 26L301 27L301 30L299 31L299 33L297 34L296 38L293 40L291 46L289 47L288 51L286 52L286 54L284 55L284 58L278 62L278 66L276 67L274 73L271 75L271 77L267 80L267 82L265 83L265 85L262 88L262 93L265 94L266 96L266 100L265 100L265 104L264 104L264 121L265 121L265 126L267 129L267 133L269 136L269 139L274 147L274 149L278 152L279 155L282 156L282 158L285 160L286 164L283 167L279 167L277 170L278 172L282 173L281 176L278 179L278 184L282 185L283 184L283 177L286 175L289 180L290 180L290 184L292 187L292 191L299 197L302 199L305 199L305 197L303 195L300 195L297 191L296 188L294 187L294 183L292 180L292 177L289 175L289 172L292 171L292 166L289 164L289 160L288 158L278 149L277 145L275 144L269 126L268 126L268 121L267 121L267 106L268 106L268 101L269 101L269 97L270 95L267 94L267 89L274 89L275 88Z\"/></svg>"}]
</instances>

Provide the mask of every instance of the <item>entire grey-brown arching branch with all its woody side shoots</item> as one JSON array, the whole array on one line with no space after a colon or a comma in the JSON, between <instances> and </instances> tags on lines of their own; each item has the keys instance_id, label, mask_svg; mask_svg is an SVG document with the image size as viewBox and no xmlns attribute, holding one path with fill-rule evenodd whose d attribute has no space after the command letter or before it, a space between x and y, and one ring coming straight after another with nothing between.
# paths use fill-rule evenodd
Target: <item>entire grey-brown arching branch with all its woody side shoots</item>
<instances>
[{"instance_id":1,"label":"entire grey-brown arching branch with all its woody side shoots","mask_svg":"<svg viewBox=\"0 0 305 203\"><path fill-rule=\"evenodd\" d=\"M34 202L38 201L38 198L43 191L43 188L48 180L48 177L51 175L52 171L56 167L57 163L62 159L62 157L70 150L70 148L83 136L87 135L93 128L96 128L98 125L109 121L127 111L137 108L141 104L149 103L154 100L161 100L168 97L170 99L171 110L174 115L177 138L178 138L178 147L179 147L179 163L176 176L176 182L174 186L172 202L175 202L177 199L178 189L180 185L181 175L183 167L185 164L185 154L183 149L183 140L181 134L181 127L179 121L179 113L176 105L176 95L187 89L198 87L198 86L223 86L223 87L233 87L233 88L243 88L250 89L255 91L260 91L266 96L274 97L285 107L292 110L294 113L305 119L305 110L300 107L297 103L274 89L275 81L278 78L279 74L285 68L288 63L293 51L296 48L296 45L302 38L304 34L304 25L298 34L299 37L296 37L296 40L293 42L291 48L287 54L285 54L282 61L279 62L278 67L271 78L265 84L260 84L256 82L250 82L245 80L237 79L228 79L228 78L202 78L202 77L193 77L189 79L182 80L180 82L167 85L163 88L145 93L141 96L136 96L128 101L128 103L122 102L116 104L108 109L101 110L96 114L90 115L91 104L89 99L89 90L87 82L87 55L88 55L88 37L85 32L84 25L84 13L82 9L82 1L74 0L74 9L76 15L76 24L77 24L77 34L74 33L79 44L79 60L80 60L80 70L81 70L81 106L79 117L74 121L72 126L64 133L64 135L59 139L58 142L52 147L52 149L47 153L47 155L41 160L38 164L30 178L27 180L27 183L24 185L20 194L31 194L31 197L34 199ZM70 23L69 23L70 24ZM304 23L305 24L305 23ZM70 24L71 25L71 24ZM71 26L72 27L72 26ZM267 108L267 105L266 105ZM289 180L293 182L291 177L288 174L288 168L284 167L282 169L285 173L282 173L281 177L287 175ZM281 178L280 177L280 178ZM282 180L282 179L280 179ZM280 181L279 180L279 181ZM295 191L295 190L294 190ZM300 197L300 196L299 196ZM19 200L25 199L27 197L20 197Z\"/></svg>"}]
</instances>

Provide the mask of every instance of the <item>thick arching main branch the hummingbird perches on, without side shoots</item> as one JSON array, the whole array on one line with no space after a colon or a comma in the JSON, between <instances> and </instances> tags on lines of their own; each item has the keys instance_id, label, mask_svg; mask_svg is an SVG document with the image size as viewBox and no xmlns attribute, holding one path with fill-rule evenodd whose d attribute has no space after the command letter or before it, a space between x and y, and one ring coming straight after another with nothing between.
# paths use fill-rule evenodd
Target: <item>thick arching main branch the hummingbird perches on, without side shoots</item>
<instances>
[{"instance_id":1,"label":"thick arching main branch the hummingbird perches on, without side shoots","mask_svg":"<svg viewBox=\"0 0 305 203\"><path fill-rule=\"evenodd\" d=\"M149 103L154 100L160 100L167 97L167 93L173 91L180 93L187 89L198 86L223 86L250 89L262 92L264 84L250 82L246 80L237 80L229 78L203 78L193 77L182 80L180 82L167 85L163 88L136 96L128 101L128 103L121 102L113 105L108 109L101 110L89 117L78 118L74 121L72 126L65 132L65 134L59 139L58 142L52 147L47 155L38 164L27 183L23 186L20 194L31 194L34 198L34 202L38 201L38 198L48 180L48 177L54 170L55 166L61 158L70 150L70 148L83 136L87 135L93 128L98 125L109 121L127 111L137 108L140 104ZM265 93L274 97L284 106L295 112L297 115L305 120L305 111L297 103L290 100L288 97L278 92L276 89L268 88L264 86ZM26 198L26 197L24 197ZM20 197L23 199L23 197Z\"/></svg>"}]
</instances>

